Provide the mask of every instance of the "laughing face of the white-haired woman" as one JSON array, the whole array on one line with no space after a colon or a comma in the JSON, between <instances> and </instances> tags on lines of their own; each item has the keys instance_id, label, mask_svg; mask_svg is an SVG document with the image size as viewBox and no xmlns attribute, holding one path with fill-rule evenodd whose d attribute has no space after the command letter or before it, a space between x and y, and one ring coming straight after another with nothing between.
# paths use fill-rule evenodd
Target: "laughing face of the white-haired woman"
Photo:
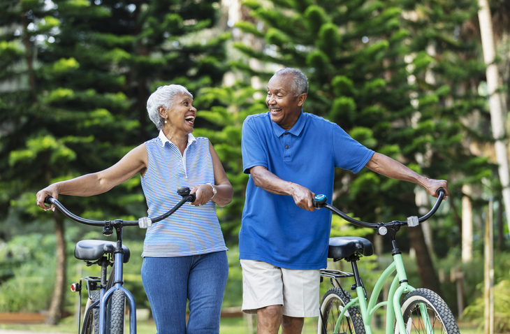
<instances>
[{"instance_id":1,"label":"laughing face of the white-haired woman","mask_svg":"<svg viewBox=\"0 0 510 334\"><path fill-rule=\"evenodd\" d=\"M177 94L173 100L173 106L165 111L168 115L165 128L173 132L182 131L186 135L193 132L196 108L193 106L193 99L189 94Z\"/></svg>"}]
</instances>

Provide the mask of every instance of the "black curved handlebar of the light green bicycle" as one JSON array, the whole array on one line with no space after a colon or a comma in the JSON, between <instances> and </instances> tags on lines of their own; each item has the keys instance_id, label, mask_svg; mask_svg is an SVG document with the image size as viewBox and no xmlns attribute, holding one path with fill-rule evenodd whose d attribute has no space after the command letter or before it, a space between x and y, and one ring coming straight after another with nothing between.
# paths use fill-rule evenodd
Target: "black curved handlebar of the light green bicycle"
<instances>
[{"instance_id":1,"label":"black curved handlebar of the light green bicycle","mask_svg":"<svg viewBox=\"0 0 510 334\"><path fill-rule=\"evenodd\" d=\"M388 228L387 228L388 226L389 227L405 226L405 225L407 225L409 227L418 226L418 224L420 224L421 222L425 222L425 220L432 217L432 215L434 215L436 213L437 209L439 209L439 205L441 205L441 202L443 201L444 189L442 189L442 188L437 189L437 194L438 194L438 196L437 196L436 203L434 204L432 209L427 214L423 215L423 217L418 218L417 216L411 216L411 217L407 217L407 221L394 220L393 222L388 222L388 223L362 222L358 219L354 219L353 217L349 217L348 215L344 214L344 212L335 208L333 205L326 203L326 201L328 200L326 195L316 195L313 200L313 203L314 203L315 208L327 208L328 210L335 212L335 214L339 215L340 217L347 220L347 222L349 222L351 224L354 224L354 225L360 226L360 227L374 228L374 229L377 229L378 234L385 235L386 233L388 233Z\"/></svg>"}]
</instances>

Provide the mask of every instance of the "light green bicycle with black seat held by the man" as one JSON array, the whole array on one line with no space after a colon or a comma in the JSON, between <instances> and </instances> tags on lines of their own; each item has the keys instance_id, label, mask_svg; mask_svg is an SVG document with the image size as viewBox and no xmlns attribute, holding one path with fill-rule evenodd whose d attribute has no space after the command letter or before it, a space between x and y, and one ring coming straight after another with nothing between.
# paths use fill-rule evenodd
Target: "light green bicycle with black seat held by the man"
<instances>
[{"instance_id":1,"label":"light green bicycle with black seat held by the man","mask_svg":"<svg viewBox=\"0 0 510 334\"><path fill-rule=\"evenodd\" d=\"M374 249L372 243L365 238L336 237L330 238L328 258L333 261L345 259L351 262L353 273L340 270L321 270L321 282L324 277L329 278L333 288L323 296L320 306L320 317L317 325L318 334L326 333L356 333L372 334L371 321L374 312L386 305L386 334L389 333L447 333L458 334L459 328L449 307L437 293L429 289L415 289L407 282L402 252L397 247L396 233L402 226L418 226L421 222L432 217L444 198L444 189L438 189L438 198L430 212L423 217L408 217L407 221L394 220L388 223L368 223L354 219L326 203L325 195L314 198L316 208L327 208L351 224L360 227L374 228L379 235L386 235L390 231L393 248L393 262L384 270L374 286L370 300L367 303L367 291L363 286L356 261L361 256L370 256ZM388 299L377 303L381 289L393 272L396 271L391 283ZM342 288L339 278L354 277L355 283L351 290L356 291L353 298ZM405 298L400 303L404 293ZM395 322L396 320L396 322Z\"/></svg>"}]
</instances>

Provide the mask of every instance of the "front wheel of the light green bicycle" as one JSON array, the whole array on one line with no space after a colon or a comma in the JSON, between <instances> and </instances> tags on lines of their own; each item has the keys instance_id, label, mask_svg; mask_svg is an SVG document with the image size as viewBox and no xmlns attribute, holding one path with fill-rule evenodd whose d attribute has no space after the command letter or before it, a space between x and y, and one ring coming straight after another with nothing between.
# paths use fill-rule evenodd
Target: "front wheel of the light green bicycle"
<instances>
[{"instance_id":1,"label":"front wheel of the light green bicycle","mask_svg":"<svg viewBox=\"0 0 510 334\"><path fill-rule=\"evenodd\" d=\"M459 334L455 317L441 297L429 289L416 289L405 296L400 306L406 334L446 333ZM423 307L427 314L422 313ZM424 319L425 318L425 319ZM426 321L428 319L428 321ZM395 326L395 334L398 328Z\"/></svg>"}]
</instances>

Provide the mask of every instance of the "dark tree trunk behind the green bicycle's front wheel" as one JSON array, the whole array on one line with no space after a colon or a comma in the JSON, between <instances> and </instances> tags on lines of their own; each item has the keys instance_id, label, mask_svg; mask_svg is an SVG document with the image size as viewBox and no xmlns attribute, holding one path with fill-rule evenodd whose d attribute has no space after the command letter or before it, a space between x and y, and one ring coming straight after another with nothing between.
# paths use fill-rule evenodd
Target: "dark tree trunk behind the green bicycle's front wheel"
<instances>
[{"instance_id":1,"label":"dark tree trunk behind the green bicycle's front wheel","mask_svg":"<svg viewBox=\"0 0 510 334\"><path fill-rule=\"evenodd\" d=\"M441 285L439 284L439 278L437 277L434 266L432 265L432 259L430 258L427 245L425 244L421 225L407 228L407 232L409 233L411 245L416 251L416 265L418 266L418 275L421 279L421 286L435 291L435 293L441 296Z\"/></svg>"}]
</instances>

